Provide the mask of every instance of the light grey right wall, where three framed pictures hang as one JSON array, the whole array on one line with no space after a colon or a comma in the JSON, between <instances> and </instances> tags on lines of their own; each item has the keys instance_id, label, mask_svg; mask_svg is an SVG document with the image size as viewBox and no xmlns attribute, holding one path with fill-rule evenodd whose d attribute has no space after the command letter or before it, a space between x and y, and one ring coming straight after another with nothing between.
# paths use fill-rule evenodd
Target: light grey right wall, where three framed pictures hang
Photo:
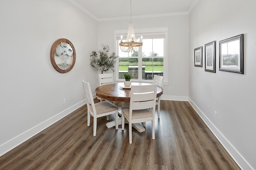
<instances>
[{"instance_id":1,"label":"light grey right wall, where three framed pictures hang","mask_svg":"<svg viewBox=\"0 0 256 170\"><path fill-rule=\"evenodd\" d=\"M190 103L244 170L256 169L255 7L255 0L199 0L189 15ZM219 41L242 33L244 74L219 71ZM214 40L216 73L204 71L204 59L194 67L194 49L203 46L204 58Z\"/></svg>"}]
</instances>

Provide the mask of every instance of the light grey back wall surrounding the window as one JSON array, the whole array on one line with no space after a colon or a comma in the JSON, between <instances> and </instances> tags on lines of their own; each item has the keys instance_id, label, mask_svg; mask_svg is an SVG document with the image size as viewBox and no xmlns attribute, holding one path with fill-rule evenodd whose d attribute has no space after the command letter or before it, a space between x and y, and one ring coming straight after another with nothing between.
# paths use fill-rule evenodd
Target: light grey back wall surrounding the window
<instances>
[{"instance_id":1,"label":"light grey back wall surrounding the window","mask_svg":"<svg viewBox=\"0 0 256 170\"><path fill-rule=\"evenodd\" d=\"M127 29L130 20L100 21L98 48L102 43L114 51L114 30ZM168 85L163 100L188 100L188 15L132 19L134 29L168 27ZM128 31L127 31L128 32ZM168 87L172 91L168 91Z\"/></svg>"}]
</instances>

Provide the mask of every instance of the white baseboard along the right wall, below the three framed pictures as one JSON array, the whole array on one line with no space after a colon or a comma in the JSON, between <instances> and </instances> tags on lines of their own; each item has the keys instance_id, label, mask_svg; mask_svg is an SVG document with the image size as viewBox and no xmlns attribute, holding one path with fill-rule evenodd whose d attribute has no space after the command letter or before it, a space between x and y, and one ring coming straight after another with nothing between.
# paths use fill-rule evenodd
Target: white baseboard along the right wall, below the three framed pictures
<instances>
[{"instance_id":1,"label":"white baseboard along the right wall, below the three framed pictures","mask_svg":"<svg viewBox=\"0 0 256 170\"><path fill-rule=\"evenodd\" d=\"M227 150L230 156L236 161L238 166L244 170L253 170L252 167L246 162L246 160L239 154L239 152L231 145L231 143L222 135L222 133L214 126L214 124L204 115L204 113L196 106L196 104L188 98L188 102L195 109L204 123L212 131L221 145Z\"/></svg>"}]
</instances>

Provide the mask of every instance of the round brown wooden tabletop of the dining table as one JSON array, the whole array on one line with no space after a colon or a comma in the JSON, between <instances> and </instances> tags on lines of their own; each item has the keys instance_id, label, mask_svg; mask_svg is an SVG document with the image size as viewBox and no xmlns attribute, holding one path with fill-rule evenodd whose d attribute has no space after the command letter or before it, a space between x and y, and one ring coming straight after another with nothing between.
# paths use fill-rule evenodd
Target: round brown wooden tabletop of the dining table
<instances>
[{"instance_id":1,"label":"round brown wooden tabletop of the dining table","mask_svg":"<svg viewBox=\"0 0 256 170\"><path fill-rule=\"evenodd\" d=\"M147 85L148 83L138 83L132 82L132 85ZM99 98L110 100L110 101L118 101L118 102L130 102L131 89L130 88L122 88L124 86L123 82L113 83L113 84L105 84L103 86L99 86L96 88L95 92ZM156 97L159 97L163 94L163 89L157 86L157 94Z\"/></svg>"}]
</instances>

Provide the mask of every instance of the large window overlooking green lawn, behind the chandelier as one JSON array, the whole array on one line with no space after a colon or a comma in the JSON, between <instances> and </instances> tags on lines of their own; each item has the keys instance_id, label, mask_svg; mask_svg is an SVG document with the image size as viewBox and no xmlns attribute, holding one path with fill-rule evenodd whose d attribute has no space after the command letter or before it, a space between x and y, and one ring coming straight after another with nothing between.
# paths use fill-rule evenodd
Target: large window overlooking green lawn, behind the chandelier
<instances>
[{"instance_id":1,"label":"large window overlooking green lawn, behind the chandelier","mask_svg":"<svg viewBox=\"0 0 256 170\"><path fill-rule=\"evenodd\" d=\"M115 31L116 53L119 56L115 72L116 80L123 80L124 73L133 75L132 80L148 81L152 80L154 74L164 76L167 82L167 28L141 29L141 33L136 33L136 37L142 35L142 50L133 53L124 53L120 50L120 36L126 39L124 33ZM124 30L122 30L124 32ZM136 32L136 30L134 30ZM148 33L149 32L149 33ZM127 34L127 31L125 31Z\"/></svg>"}]
</instances>

